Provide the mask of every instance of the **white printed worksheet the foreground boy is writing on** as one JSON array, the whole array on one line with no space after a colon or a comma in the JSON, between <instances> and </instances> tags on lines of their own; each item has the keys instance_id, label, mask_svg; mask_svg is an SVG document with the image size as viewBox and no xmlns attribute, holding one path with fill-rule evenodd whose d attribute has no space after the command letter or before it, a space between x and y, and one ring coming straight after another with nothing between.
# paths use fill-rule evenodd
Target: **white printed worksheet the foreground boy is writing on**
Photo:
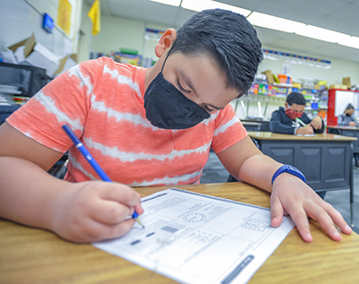
<instances>
[{"instance_id":1,"label":"white printed worksheet the foreground boy is writing on","mask_svg":"<svg viewBox=\"0 0 359 284\"><path fill-rule=\"evenodd\" d=\"M270 211L171 188L142 199L145 228L94 246L186 283L245 283L294 227Z\"/></svg>"}]
</instances>

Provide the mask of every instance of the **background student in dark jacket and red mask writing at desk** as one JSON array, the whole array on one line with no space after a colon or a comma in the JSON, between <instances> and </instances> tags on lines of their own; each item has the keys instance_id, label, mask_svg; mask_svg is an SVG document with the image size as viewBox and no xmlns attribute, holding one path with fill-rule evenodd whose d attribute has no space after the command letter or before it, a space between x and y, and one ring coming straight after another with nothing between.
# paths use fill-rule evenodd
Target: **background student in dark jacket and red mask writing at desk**
<instances>
[{"instance_id":1,"label":"background student in dark jacket and red mask writing at desk","mask_svg":"<svg viewBox=\"0 0 359 284\"><path fill-rule=\"evenodd\" d=\"M292 92L285 101L285 108L280 107L270 118L269 127L273 133L282 134L312 134L324 132L324 121L321 116L312 120L304 113L305 99L299 92ZM297 121L299 118L305 125Z\"/></svg>"}]
</instances>

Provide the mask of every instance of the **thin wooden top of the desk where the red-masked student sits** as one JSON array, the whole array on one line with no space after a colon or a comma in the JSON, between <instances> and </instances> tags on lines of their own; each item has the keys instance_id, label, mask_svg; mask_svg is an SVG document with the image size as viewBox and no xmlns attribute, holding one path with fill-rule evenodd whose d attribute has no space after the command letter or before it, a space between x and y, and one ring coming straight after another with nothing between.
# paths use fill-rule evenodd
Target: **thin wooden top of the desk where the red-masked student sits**
<instances>
[{"instance_id":1,"label":"thin wooden top of the desk where the red-masked student sits","mask_svg":"<svg viewBox=\"0 0 359 284\"><path fill-rule=\"evenodd\" d=\"M329 133L315 133L315 136L302 136L280 134L272 132L250 131L248 132L251 138L259 140L286 140L286 141L355 141L356 137L343 136Z\"/></svg>"}]
</instances>

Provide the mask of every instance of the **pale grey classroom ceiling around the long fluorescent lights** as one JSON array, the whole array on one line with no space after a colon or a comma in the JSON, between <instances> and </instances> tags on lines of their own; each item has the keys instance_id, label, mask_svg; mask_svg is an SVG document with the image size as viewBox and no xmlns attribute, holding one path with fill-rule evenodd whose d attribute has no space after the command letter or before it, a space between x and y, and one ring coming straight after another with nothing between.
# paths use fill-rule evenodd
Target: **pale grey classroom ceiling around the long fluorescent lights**
<instances>
[{"instance_id":1,"label":"pale grey classroom ceiling around the long fluorescent lights","mask_svg":"<svg viewBox=\"0 0 359 284\"><path fill-rule=\"evenodd\" d=\"M197 1L197 0L193 0ZM250 11L359 37L359 0L216 0ZM94 0L85 0L92 5ZM178 29L193 15L181 7L148 0L101 0L101 13ZM359 63L359 49L278 30L256 27L263 47L321 59L339 58Z\"/></svg>"}]
</instances>

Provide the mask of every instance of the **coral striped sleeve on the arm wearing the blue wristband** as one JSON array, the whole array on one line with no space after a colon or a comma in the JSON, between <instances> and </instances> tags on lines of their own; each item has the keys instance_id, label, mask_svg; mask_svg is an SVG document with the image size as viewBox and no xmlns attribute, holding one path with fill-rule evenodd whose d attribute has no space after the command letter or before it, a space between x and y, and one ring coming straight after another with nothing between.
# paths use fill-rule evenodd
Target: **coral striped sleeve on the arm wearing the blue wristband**
<instances>
[{"instance_id":1,"label":"coral striped sleeve on the arm wearing the blue wristband","mask_svg":"<svg viewBox=\"0 0 359 284\"><path fill-rule=\"evenodd\" d=\"M247 130L241 124L232 105L228 104L215 118L215 133L211 147L215 153L219 153L240 142L247 135Z\"/></svg>"}]
</instances>

